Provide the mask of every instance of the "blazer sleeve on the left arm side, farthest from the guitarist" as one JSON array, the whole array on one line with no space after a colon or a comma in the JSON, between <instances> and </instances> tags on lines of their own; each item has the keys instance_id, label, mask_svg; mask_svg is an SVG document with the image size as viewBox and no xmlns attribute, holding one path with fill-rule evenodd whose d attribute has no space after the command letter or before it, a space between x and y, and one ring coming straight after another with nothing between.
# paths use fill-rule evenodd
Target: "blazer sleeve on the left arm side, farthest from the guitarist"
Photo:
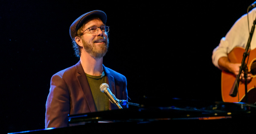
<instances>
[{"instance_id":1,"label":"blazer sleeve on the left arm side, farthest from the guitarist","mask_svg":"<svg viewBox=\"0 0 256 134\"><path fill-rule=\"evenodd\" d=\"M50 92L46 101L45 128L68 126L70 96L66 82L61 75L52 76Z\"/></svg>"}]
</instances>

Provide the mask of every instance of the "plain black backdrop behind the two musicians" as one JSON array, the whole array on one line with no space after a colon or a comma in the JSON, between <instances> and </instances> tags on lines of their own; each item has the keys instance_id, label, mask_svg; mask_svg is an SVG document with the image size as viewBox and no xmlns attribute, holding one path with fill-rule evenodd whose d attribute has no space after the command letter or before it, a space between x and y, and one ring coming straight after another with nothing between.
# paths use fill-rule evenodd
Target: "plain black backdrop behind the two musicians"
<instances>
[{"instance_id":1,"label":"plain black backdrop behind the two musicians","mask_svg":"<svg viewBox=\"0 0 256 134\"><path fill-rule=\"evenodd\" d=\"M126 76L130 102L221 101L212 51L253 2L1 1L0 133L44 128L50 78L79 61L69 27L93 10L107 14L104 65Z\"/></svg>"}]
</instances>

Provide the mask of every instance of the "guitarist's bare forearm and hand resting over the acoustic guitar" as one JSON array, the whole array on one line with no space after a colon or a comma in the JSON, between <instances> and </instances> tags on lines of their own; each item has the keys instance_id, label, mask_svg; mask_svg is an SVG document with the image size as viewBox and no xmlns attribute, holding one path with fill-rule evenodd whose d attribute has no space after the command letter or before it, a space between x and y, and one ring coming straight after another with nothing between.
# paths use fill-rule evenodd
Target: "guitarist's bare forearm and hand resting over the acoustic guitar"
<instances>
[{"instance_id":1,"label":"guitarist's bare forearm and hand resting over the acoustic guitar","mask_svg":"<svg viewBox=\"0 0 256 134\"><path fill-rule=\"evenodd\" d=\"M221 57L218 60L218 65L221 70L231 72L232 74L238 75L241 63L231 63L228 57ZM251 80L252 75L248 73L247 81ZM241 80L244 80L244 73L240 76Z\"/></svg>"}]
</instances>

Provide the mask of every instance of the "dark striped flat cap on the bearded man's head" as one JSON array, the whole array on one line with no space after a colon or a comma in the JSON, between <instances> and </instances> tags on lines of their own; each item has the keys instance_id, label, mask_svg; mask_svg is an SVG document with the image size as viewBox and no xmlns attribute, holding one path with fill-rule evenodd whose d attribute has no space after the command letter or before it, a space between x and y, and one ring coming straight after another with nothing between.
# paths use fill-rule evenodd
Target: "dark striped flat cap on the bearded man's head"
<instances>
[{"instance_id":1,"label":"dark striped flat cap on the bearded man's head","mask_svg":"<svg viewBox=\"0 0 256 134\"><path fill-rule=\"evenodd\" d=\"M76 32L78 30L78 28L83 24L83 22L86 20L86 18L88 18L91 15L98 15L98 17L102 20L102 22L104 24L106 24L107 22L107 15L105 14L105 12L100 11L100 10L94 10L91 12L87 12L83 15L81 15L80 17L78 17L70 26L69 29L69 34L71 39L74 39L76 37Z\"/></svg>"}]
</instances>

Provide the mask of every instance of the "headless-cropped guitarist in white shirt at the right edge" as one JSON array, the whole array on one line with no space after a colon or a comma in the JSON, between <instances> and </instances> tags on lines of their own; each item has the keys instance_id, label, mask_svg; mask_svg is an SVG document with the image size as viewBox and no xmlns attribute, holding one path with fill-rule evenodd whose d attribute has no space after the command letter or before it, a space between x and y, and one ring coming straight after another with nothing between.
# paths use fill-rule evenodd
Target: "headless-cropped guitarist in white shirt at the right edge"
<instances>
[{"instance_id":1,"label":"headless-cropped guitarist in white shirt at the right edge","mask_svg":"<svg viewBox=\"0 0 256 134\"><path fill-rule=\"evenodd\" d=\"M256 8L252 9L248 13L249 28L253 26L253 21L256 18ZM253 38L251 39L251 50L256 48L256 30L254 30ZM223 37L219 45L213 50L212 62L213 65L221 69L222 71L230 72L238 75L241 63L232 63L228 58L228 54L235 47L245 48L249 38L248 20L247 14L239 18L229 32ZM239 55L240 56L240 55ZM242 56L242 55L241 55ZM245 61L245 63L247 60ZM249 63L248 63L249 64ZM250 81L252 74L248 73L247 81ZM240 75L240 80L244 81L244 72ZM230 90L230 89L228 89ZM223 97L222 97L223 99Z\"/></svg>"}]
</instances>

